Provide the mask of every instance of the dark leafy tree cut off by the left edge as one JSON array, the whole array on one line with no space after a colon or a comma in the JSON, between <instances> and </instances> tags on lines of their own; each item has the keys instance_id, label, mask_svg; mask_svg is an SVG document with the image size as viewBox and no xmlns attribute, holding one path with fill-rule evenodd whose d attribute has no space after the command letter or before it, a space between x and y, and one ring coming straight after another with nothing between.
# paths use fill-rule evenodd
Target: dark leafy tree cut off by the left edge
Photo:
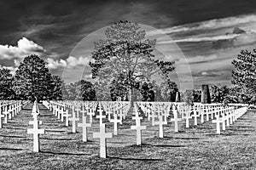
<instances>
[{"instance_id":1,"label":"dark leafy tree cut off by the left edge","mask_svg":"<svg viewBox=\"0 0 256 170\"><path fill-rule=\"evenodd\" d=\"M13 90L14 77L9 69L0 69L0 96L1 99L15 99Z\"/></svg>"}]
</instances>

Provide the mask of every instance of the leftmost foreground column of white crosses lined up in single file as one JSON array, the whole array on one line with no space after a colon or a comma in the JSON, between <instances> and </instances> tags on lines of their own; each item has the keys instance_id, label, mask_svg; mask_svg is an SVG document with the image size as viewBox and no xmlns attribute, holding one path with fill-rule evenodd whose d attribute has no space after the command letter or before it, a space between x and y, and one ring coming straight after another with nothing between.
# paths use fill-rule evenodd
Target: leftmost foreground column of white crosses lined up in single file
<instances>
[{"instance_id":1,"label":"leftmost foreground column of white crosses lined up in single file","mask_svg":"<svg viewBox=\"0 0 256 170\"><path fill-rule=\"evenodd\" d=\"M29 124L33 125L32 129L27 129L27 133L33 134L33 151L39 152L40 151L40 142L39 142L39 134L44 134L45 129L40 129L39 125L42 124L42 121L38 121L39 116L39 109L37 101L34 102L32 107L32 117L33 121L30 121Z\"/></svg>"}]
</instances>

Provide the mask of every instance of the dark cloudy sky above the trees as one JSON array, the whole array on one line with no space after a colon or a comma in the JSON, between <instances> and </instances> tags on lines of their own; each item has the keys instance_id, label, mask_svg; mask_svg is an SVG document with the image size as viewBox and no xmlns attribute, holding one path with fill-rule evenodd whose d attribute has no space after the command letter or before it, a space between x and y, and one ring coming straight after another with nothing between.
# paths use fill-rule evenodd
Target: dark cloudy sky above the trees
<instances>
[{"instance_id":1,"label":"dark cloudy sky above the trees","mask_svg":"<svg viewBox=\"0 0 256 170\"><path fill-rule=\"evenodd\" d=\"M172 79L181 88L230 85L232 59L256 48L255 6L255 0L1 0L0 68L15 71L26 55L38 54L66 82L90 78L89 55L104 38L102 28L129 20L154 28L150 35L169 36L159 39L160 53L176 61Z\"/></svg>"}]
</instances>

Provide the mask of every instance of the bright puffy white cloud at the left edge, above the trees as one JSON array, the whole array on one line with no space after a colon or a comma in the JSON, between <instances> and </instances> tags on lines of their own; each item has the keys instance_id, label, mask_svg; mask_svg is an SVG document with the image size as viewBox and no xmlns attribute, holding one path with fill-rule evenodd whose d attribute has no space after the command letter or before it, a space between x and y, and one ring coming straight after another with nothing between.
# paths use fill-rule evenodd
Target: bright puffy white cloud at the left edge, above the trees
<instances>
[{"instance_id":1,"label":"bright puffy white cloud at the left edge, above the trees","mask_svg":"<svg viewBox=\"0 0 256 170\"><path fill-rule=\"evenodd\" d=\"M45 49L26 37L22 37L17 46L0 45L0 59L23 59L27 55L37 54L39 56L45 53Z\"/></svg>"}]
</instances>

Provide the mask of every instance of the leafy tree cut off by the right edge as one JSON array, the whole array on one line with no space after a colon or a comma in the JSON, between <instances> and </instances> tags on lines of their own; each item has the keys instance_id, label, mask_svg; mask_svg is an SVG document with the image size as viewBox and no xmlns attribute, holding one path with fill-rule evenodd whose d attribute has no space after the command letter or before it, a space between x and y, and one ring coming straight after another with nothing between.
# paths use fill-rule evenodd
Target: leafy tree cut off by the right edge
<instances>
[{"instance_id":1,"label":"leafy tree cut off by the right edge","mask_svg":"<svg viewBox=\"0 0 256 170\"><path fill-rule=\"evenodd\" d=\"M242 50L232 61L232 84L235 85L237 98L243 103L255 104L256 95L256 49L253 52Z\"/></svg>"}]
</instances>

